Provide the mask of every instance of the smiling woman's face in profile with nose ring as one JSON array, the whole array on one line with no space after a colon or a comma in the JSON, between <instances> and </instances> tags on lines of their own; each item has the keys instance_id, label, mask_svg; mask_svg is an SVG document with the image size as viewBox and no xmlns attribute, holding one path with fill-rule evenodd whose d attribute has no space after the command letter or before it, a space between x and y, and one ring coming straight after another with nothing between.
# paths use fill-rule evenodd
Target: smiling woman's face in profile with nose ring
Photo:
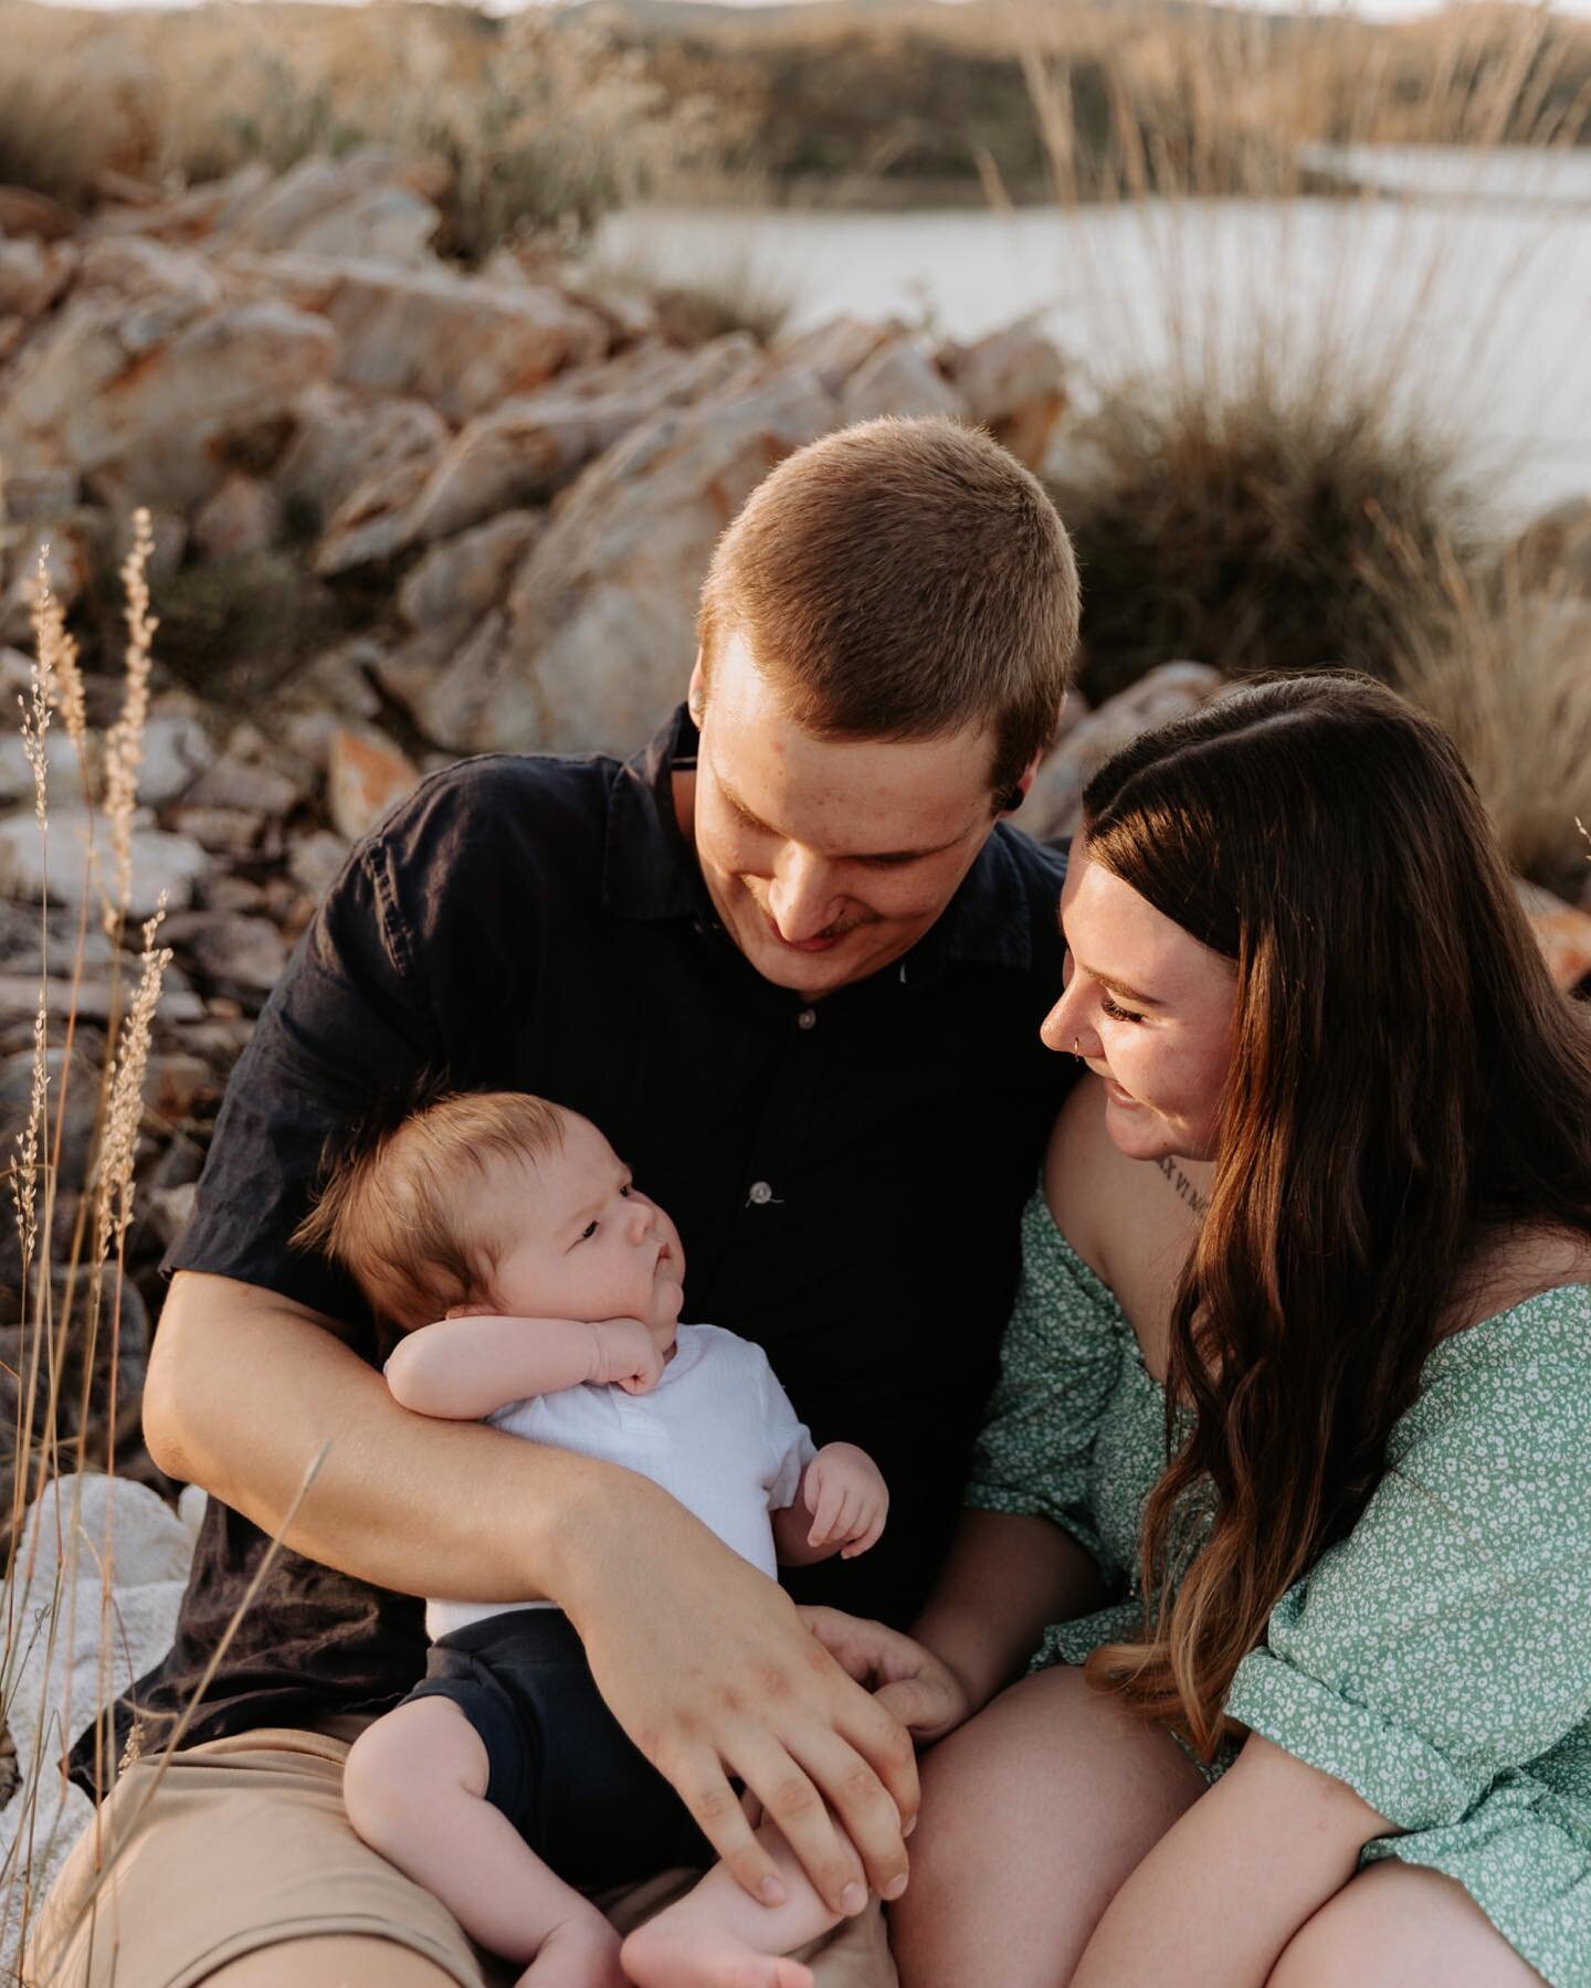
<instances>
[{"instance_id":1,"label":"smiling woman's face in profile with nose ring","mask_svg":"<svg viewBox=\"0 0 1591 1988\"><path fill-rule=\"evenodd\" d=\"M1066 990L1048 1048L1104 1079L1106 1129L1128 1159L1211 1159L1231 1064L1237 970L1090 863L1078 837L1060 895Z\"/></svg>"}]
</instances>

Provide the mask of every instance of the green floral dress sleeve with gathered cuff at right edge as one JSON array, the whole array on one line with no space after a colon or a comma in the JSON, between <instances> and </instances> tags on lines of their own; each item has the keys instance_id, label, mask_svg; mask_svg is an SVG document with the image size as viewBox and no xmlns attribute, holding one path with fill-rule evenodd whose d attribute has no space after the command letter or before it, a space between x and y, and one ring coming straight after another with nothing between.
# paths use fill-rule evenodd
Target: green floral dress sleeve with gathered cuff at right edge
<instances>
[{"instance_id":1,"label":"green floral dress sleeve with gathered cuff at right edge","mask_svg":"<svg viewBox=\"0 0 1591 1988\"><path fill-rule=\"evenodd\" d=\"M1227 1714L1398 1829L1458 1821L1591 1718L1591 1286L1446 1340L1354 1531Z\"/></svg>"}]
</instances>

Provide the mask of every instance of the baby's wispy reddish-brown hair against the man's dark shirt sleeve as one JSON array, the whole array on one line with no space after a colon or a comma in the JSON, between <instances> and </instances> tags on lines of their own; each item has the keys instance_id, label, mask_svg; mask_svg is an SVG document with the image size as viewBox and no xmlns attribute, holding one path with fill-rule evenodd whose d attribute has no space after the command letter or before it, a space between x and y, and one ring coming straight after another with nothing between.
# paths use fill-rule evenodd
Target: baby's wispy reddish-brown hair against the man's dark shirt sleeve
<instances>
[{"instance_id":1,"label":"baby's wispy reddish-brown hair against the man's dark shirt sleeve","mask_svg":"<svg viewBox=\"0 0 1591 1988\"><path fill-rule=\"evenodd\" d=\"M342 1264L402 1332L491 1302L507 1237L471 1219L487 1163L563 1149L563 1111L525 1091L455 1091L338 1161L294 1246Z\"/></svg>"}]
</instances>

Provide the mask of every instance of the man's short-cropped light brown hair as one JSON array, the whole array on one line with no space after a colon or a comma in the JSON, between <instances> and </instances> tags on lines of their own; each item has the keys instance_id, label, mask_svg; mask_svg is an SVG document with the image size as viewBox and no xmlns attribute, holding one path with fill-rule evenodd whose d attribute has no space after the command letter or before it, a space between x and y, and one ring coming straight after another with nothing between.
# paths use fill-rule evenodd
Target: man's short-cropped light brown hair
<instances>
[{"instance_id":1,"label":"man's short-cropped light brown hair","mask_svg":"<svg viewBox=\"0 0 1591 1988\"><path fill-rule=\"evenodd\" d=\"M1040 481L945 417L841 427L786 457L718 541L702 668L740 630L817 738L988 726L996 797L1054 740L1078 565ZM1006 803L1010 805L1010 803Z\"/></svg>"}]
</instances>

